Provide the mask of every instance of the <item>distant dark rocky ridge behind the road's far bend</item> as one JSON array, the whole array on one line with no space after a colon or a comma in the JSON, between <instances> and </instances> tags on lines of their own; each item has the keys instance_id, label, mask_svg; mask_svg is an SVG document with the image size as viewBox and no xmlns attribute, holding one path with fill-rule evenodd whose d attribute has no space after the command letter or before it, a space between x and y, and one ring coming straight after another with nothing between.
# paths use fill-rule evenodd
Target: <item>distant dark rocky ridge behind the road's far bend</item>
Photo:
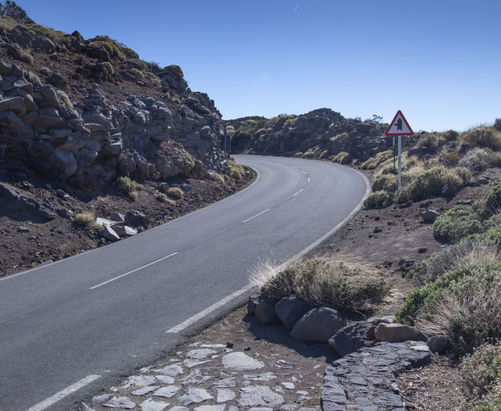
<instances>
[{"instance_id":1,"label":"distant dark rocky ridge behind the road's far bend","mask_svg":"<svg viewBox=\"0 0 501 411\"><path fill-rule=\"evenodd\" d=\"M225 125L234 153L326 158L346 152L347 163L365 161L392 144L391 137L384 136L388 124L380 117L347 119L330 108L272 119L244 117Z\"/></svg>"}]
</instances>

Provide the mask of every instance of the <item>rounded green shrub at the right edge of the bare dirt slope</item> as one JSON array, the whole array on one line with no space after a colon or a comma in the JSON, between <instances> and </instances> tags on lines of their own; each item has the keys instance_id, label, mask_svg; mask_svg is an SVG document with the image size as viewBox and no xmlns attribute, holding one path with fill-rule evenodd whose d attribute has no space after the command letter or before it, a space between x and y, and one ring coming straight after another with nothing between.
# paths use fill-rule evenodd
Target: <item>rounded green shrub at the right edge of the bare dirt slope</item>
<instances>
[{"instance_id":1,"label":"rounded green shrub at the right edge of the bare dirt slope","mask_svg":"<svg viewBox=\"0 0 501 411\"><path fill-rule=\"evenodd\" d=\"M447 240L461 240L466 235L483 232L482 219L468 205L456 205L434 222L434 234Z\"/></svg>"}]
</instances>

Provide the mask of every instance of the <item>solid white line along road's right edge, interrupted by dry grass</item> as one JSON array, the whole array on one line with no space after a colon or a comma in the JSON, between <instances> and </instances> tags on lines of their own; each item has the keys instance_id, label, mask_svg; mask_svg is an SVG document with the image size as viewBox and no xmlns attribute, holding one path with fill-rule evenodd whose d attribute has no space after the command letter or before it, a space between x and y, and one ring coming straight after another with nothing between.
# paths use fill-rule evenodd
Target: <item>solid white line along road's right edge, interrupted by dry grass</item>
<instances>
[{"instance_id":1,"label":"solid white line along road's right edge, interrupted by dry grass","mask_svg":"<svg viewBox=\"0 0 501 411\"><path fill-rule=\"evenodd\" d=\"M292 166L292 167L294 167L294 166ZM339 166L339 167L342 167L342 166ZM331 237L331 235L333 235L337 230L339 230L342 226L344 226L344 224L347 224L347 222L350 221L356 215L358 210L360 210L360 208L362 208L363 201L367 198L367 196L371 192L372 183L365 174L361 173L358 170L353 170L353 171L356 171L358 174L360 174L360 176L362 176L362 178L365 181L365 186L367 187L363 198L360 200L360 203L358 203L355 210L353 210L343 221L341 221L339 224L337 224L337 226L335 226L332 230L330 230L328 233L322 235L317 241L310 244L308 247L306 247L302 251L299 251L299 253L294 255L292 258L289 258L289 260L283 262L279 266L279 269L281 269L282 267L285 267L286 265L289 265L291 262L294 262L298 258L303 257L303 255L305 255L306 253L309 253L310 251L312 251L312 249L315 249L316 246L321 244L321 242L324 242L326 239L328 239L328 237ZM209 308L206 308L205 310L200 311L198 314L193 315L193 317L190 317L186 321L183 321L181 324L178 324L177 326L170 328L170 330L166 331L166 333L179 333L181 330L184 330L184 328L191 326L191 324L193 324L194 322L198 321L199 319L202 319L207 314L211 313L212 311L216 310L217 308L220 308L221 306L230 302L232 299L236 298L237 296L239 296L241 294L244 294L244 292L246 292L254 287L255 286L253 284L249 283L248 285L241 288L240 290L234 292L233 294L230 294L229 296L225 297L221 301L218 301L217 303L211 305Z\"/></svg>"}]
</instances>

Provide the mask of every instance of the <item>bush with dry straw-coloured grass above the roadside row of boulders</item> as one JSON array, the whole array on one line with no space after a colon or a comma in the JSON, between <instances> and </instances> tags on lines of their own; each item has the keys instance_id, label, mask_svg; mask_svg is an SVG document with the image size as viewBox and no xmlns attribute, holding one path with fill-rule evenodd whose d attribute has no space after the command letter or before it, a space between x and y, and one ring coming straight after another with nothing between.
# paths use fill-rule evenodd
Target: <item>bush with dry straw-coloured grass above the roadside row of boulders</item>
<instances>
[{"instance_id":1,"label":"bush with dry straw-coloured grass above the roadside row of boulders","mask_svg":"<svg viewBox=\"0 0 501 411\"><path fill-rule=\"evenodd\" d=\"M283 268L260 265L251 280L261 287L265 298L294 294L312 307L331 307L352 314L370 311L372 303L390 292L388 281L379 271L339 254L300 260Z\"/></svg>"}]
</instances>

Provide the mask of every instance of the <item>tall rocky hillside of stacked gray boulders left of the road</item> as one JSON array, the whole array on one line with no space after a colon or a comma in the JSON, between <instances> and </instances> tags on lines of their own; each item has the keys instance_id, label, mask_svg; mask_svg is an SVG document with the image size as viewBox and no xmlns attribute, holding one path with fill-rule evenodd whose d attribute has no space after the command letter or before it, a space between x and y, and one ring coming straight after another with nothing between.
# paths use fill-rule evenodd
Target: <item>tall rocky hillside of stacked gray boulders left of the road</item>
<instances>
[{"instance_id":1,"label":"tall rocky hillside of stacked gray boulders left of the road","mask_svg":"<svg viewBox=\"0 0 501 411\"><path fill-rule=\"evenodd\" d=\"M1 153L79 190L227 174L221 113L176 65L107 36L0 18Z\"/></svg>"}]
</instances>

